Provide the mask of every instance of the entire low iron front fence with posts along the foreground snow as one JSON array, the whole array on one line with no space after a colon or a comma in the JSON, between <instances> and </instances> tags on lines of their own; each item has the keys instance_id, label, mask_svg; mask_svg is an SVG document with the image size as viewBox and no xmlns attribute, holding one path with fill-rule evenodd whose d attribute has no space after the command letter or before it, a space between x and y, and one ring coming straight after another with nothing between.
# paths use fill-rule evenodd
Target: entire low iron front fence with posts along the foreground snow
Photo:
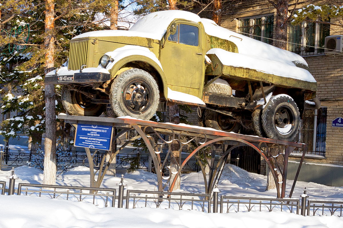
<instances>
[{"instance_id":1,"label":"entire low iron front fence with posts along the foreground snow","mask_svg":"<svg viewBox=\"0 0 343 228\"><path fill-rule=\"evenodd\" d=\"M12 183L11 183L12 182ZM306 193L301 195L301 200L297 198L266 198L266 197L237 197L220 196L218 193L211 194L167 192L167 191L140 191L127 190L124 195L124 185L119 185L119 191L113 188L89 188L77 186L41 185L19 183L18 189L14 189L15 179L10 178L9 189L6 189L6 182L0 181L2 185L1 194L25 196L37 196L50 199L65 199L72 201L85 201L93 203L99 207L122 207L126 199L126 209L137 207L152 207L175 210L198 210L210 213L213 208L214 213L220 207L220 213L250 212L250 211L281 211L305 216L338 216L342 217L343 201L327 200L307 200ZM120 187L122 189L120 190ZM116 193L118 192L118 196ZM211 201L212 198L212 201ZM301 205L300 205L301 201ZM306 206L307 204L307 206ZM307 210L307 213L306 213Z\"/></svg>"}]
</instances>

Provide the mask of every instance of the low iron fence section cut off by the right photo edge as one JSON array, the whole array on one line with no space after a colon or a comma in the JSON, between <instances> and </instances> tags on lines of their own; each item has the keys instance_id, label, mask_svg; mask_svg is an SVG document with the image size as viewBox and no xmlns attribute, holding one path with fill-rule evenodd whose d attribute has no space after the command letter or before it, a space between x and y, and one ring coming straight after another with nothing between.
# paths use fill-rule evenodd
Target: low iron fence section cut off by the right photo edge
<instances>
[{"instance_id":1,"label":"low iron fence section cut off by the right photo edge","mask_svg":"<svg viewBox=\"0 0 343 228\"><path fill-rule=\"evenodd\" d=\"M342 217L343 201L308 200L307 215L336 215ZM312 212L311 212L312 210Z\"/></svg>"}]
</instances>

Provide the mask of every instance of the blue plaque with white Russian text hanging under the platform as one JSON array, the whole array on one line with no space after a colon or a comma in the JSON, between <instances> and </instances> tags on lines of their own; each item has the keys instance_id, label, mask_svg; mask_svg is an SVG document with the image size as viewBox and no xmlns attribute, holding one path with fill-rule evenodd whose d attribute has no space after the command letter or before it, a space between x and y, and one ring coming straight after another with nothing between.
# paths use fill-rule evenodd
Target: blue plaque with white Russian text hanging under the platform
<instances>
[{"instance_id":1,"label":"blue plaque with white Russian text hanging under the platform","mask_svg":"<svg viewBox=\"0 0 343 228\"><path fill-rule=\"evenodd\" d=\"M112 131L112 126L78 123L74 146L111 150Z\"/></svg>"}]
</instances>

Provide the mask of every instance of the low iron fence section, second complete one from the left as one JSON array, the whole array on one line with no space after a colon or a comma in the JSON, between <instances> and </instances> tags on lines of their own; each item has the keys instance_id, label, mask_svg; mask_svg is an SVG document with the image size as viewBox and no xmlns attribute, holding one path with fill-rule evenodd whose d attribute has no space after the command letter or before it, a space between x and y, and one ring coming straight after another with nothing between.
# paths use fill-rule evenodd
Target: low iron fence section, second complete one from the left
<instances>
[{"instance_id":1,"label":"low iron fence section, second complete one from the left","mask_svg":"<svg viewBox=\"0 0 343 228\"><path fill-rule=\"evenodd\" d=\"M126 209L129 209L130 199L133 200L132 208L156 206L156 208L177 210L201 209L204 212L206 210L205 203L207 203L207 212L211 212L211 194L127 190ZM142 201L138 203L140 200Z\"/></svg>"}]
</instances>

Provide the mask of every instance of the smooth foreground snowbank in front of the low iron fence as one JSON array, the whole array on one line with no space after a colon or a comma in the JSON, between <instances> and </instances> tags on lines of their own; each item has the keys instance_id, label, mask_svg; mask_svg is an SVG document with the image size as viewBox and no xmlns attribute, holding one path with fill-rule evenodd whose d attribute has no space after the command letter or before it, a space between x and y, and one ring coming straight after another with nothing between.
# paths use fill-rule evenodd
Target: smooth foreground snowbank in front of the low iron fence
<instances>
[{"instance_id":1,"label":"smooth foreground snowbank in front of the low iron fence","mask_svg":"<svg viewBox=\"0 0 343 228\"><path fill-rule=\"evenodd\" d=\"M173 209L98 208L90 203L25 196L0 196L3 228L36 227L125 227L125 228L339 228L335 216L304 217L284 212L239 212L229 214L177 211Z\"/></svg>"}]
</instances>

